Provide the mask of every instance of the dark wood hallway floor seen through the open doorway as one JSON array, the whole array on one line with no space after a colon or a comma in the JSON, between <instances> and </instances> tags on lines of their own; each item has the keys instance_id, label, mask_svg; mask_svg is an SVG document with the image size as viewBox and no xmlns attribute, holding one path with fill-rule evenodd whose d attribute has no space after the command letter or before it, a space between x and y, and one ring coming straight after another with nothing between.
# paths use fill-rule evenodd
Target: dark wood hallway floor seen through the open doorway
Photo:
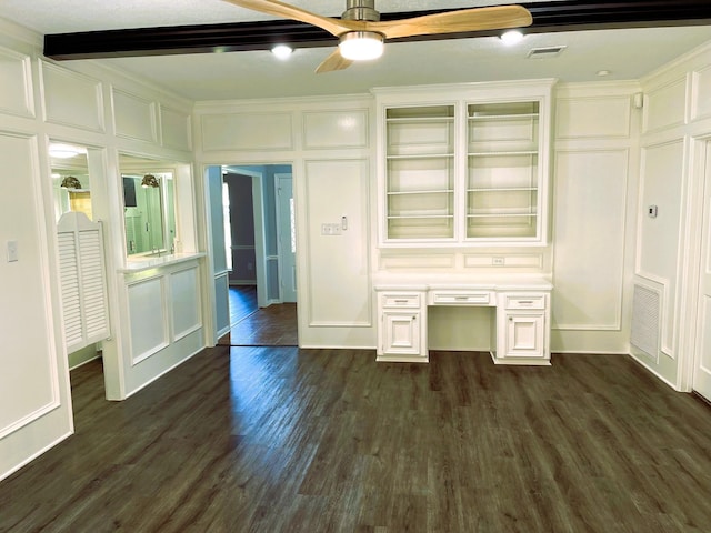
<instances>
[{"instance_id":1,"label":"dark wood hallway floor seen through the open doorway","mask_svg":"<svg viewBox=\"0 0 711 533\"><path fill-rule=\"evenodd\" d=\"M230 286L230 332L219 345L297 346L297 304L280 303L259 309L257 288Z\"/></svg>"}]
</instances>

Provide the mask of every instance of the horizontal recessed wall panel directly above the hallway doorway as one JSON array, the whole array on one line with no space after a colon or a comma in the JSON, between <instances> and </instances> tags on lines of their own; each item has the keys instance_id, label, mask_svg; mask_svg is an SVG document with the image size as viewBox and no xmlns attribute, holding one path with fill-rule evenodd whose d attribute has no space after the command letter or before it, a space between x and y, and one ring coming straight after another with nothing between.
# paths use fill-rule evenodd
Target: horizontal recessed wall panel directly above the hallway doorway
<instances>
[{"instance_id":1,"label":"horizontal recessed wall panel directly above the hallway doorway","mask_svg":"<svg viewBox=\"0 0 711 533\"><path fill-rule=\"evenodd\" d=\"M292 150L291 113L233 113L201 117L206 152Z\"/></svg>"}]
</instances>

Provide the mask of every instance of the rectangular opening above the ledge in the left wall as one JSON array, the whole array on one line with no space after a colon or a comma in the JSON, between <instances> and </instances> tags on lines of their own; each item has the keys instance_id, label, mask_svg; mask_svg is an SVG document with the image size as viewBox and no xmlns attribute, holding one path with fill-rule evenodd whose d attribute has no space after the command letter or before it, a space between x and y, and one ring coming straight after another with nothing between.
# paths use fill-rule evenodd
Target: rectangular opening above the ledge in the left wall
<instances>
[{"instance_id":1,"label":"rectangular opening above the ledge in the left wall","mask_svg":"<svg viewBox=\"0 0 711 533\"><path fill-rule=\"evenodd\" d=\"M122 157L123 222L129 257L174 252L174 173L159 164ZM141 169L129 170L136 165Z\"/></svg>"}]
</instances>

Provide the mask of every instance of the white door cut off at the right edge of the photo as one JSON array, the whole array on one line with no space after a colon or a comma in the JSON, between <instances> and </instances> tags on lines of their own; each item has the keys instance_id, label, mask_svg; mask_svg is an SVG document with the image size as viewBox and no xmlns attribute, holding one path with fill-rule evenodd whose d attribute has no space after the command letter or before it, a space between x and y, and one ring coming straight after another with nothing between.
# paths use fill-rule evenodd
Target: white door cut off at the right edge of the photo
<instances>
[{"instance_id":1,"label":"white door cut off at the right edge of the photo","mask_svg":"<svg viewBox=\"0 0 711 533\"><path fill-rule=\"evenodd\" d=\"M699 280L699 333L693 389L711 400L711 141L705 145L703 225Z\"/></svg>"}]
</instances>

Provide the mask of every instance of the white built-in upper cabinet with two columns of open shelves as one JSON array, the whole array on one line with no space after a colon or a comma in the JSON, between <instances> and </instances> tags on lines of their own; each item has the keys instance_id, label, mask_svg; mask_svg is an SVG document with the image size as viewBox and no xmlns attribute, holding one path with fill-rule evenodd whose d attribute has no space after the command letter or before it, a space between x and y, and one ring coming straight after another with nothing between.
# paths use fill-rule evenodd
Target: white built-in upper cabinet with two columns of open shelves
<instances>
[{"instance_id":1,"label":"white built-in upper cabinet with two columns of open shelves","mask_svg":"<svg viewBox=\"0 0 711 533\"><path fill-rule=\"evenodd\" d=\"M552 84L374 90L380 245L545 244Z\"/></svg>"}]
</instances>

